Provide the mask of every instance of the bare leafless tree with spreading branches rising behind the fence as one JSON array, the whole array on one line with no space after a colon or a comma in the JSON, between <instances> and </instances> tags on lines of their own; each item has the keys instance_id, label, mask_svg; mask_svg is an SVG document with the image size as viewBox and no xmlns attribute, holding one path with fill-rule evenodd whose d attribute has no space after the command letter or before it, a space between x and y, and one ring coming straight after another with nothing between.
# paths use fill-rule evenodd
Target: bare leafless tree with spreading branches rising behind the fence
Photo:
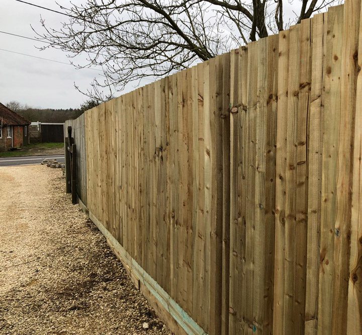
<instances>
[{"instance_id":1,"label":"bare leafless tree with spreading branches rising behind the fence","mask_svg":"<svg viewBox=\"0 0 362 335\"><path fill-rule=\"evenodd\" d=\"M293 0L289 0L289 3ZM310 18L334 0L302 0L291 23ZM104 81L95 79L85 95L109 100L104 88L121 91L127 83L165 76L205 61L231 48L288 28L283 0L87 0L61 9L69 20L60 30L41 23L38 38L45 48L58 48L101 66Z\"/></svg>"}]
</instances>

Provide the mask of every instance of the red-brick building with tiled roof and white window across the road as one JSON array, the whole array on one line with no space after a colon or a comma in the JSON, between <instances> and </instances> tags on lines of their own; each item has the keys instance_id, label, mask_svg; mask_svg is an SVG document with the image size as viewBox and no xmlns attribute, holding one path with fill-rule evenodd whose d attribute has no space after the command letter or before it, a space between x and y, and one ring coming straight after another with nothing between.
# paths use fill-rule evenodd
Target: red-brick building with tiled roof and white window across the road
<instances>
[{"instance_id":1,"label":"red-brick building with tiled roof and white window across the road","mask_svg":"<svg viewBox=\"0 0 362 335\"><path fill-rule=\"evenodd\" d=\"M30 122L0 103L0 151L29 143Z\"/></svg>"}]
</instances>

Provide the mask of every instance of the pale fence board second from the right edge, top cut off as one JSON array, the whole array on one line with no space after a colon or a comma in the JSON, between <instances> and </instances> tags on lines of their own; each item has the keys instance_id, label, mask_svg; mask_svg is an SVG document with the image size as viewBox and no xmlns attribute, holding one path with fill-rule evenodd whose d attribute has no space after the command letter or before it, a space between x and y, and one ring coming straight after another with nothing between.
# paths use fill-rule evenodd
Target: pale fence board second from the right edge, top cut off
<instances>
[{"instance_id":1,"label":"pale fence board second from the right edge, top cut off","mask_svg":"<svg viewBox=\"0 0 362 335\"><path fill-rule=\"evenodd\" d=\"M348 303L353 139L356 102L360 1L347 0L343 6L341 70L341 117L337 163L337 215L334 237L334 299L332 331L346 334ZM353 275L352 275L353 277ZM351 278L352 278L351 277ZM352 279L353 280L353 279Z\"/></svg>"}]
</instances>

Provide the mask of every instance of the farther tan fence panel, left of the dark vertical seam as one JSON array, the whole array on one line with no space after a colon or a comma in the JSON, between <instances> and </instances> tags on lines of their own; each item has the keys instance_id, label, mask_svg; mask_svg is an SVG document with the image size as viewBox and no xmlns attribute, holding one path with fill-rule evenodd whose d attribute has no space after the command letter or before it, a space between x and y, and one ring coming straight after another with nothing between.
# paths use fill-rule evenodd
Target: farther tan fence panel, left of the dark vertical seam
<instances>
[{"instance_id":1,"label":"farther tan fence panel, left of the dark vertical seam","mask_svg":"<svg viewBox=\"0 0 362 335\"><path fill-rule=\"evenodd\" d=\"M85 113L89 211L213 333L229 197L228 74L225 54Z\"/></svg>"}]
</instances>

